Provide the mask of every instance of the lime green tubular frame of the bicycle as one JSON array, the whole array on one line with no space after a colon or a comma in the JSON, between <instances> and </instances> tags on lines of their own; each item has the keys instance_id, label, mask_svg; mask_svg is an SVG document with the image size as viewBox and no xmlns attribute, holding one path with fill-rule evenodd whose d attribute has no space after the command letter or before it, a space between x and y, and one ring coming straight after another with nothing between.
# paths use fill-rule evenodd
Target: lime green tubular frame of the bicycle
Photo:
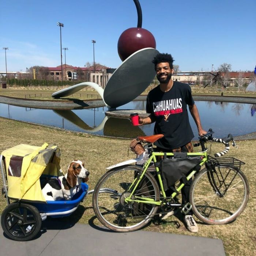
<instances>
[{"instance_id":1,"label":"lime green tubular frame of the bicycle","mask_svg":"<svg viewBox=\"0 0 256 256\"><path fill-rule=\"evenodd\" d=\"M152 152L150 154L150 157L148 158L148 160L144 163L143 165L143 169L142 169L142 173L140 174L140 177L137 178L135 177L134 181L132 182L132 184L130 185L129 187L129 190L132 190L131 191L131 194L129 195L129 197L125 198L125 202L126 203L129 203L129 202L137 202L137 203L147 203L147 204L155 204L157 206L160 206L161 203L162 203L162 200L159 200L159 201L154 201L154 199L151 199L151 198L145 198L145 197L139 197L139 196L134 196L135 199L132 199L132 196L133 196L133 193L136 191L136 188L138 187L140 181L142 180L144 174L146 173L148 167L150 166L150 163L153 161L154 164L157 163L157 158L156 157L161 157L163 156L164 153L160 153L160 152ZM166 156L167 157L173 157L173 153L166 153ZM200 162L200 166L202 166L205 162L207 162L207 159L208 159L208 155L207 155L207 152L202 152L202 153L187 153L188 157L196 157L196 156L202 156L203 159L202 161ZM160 184L160 189L161 189L161 192L162 192L162 195L163 195L163 198L166 198L166 194L165 194L165 191L163 189L163 182L162 182L162 177L161 177L161 174L160 174L160 170L158 167L155 166L155 169L156 169L156 173L157 173L157 177L158 177L158 181L159 181L159 184ZM192 176L196 173L197 171L196 170L192 170L192 172L190 172L188 174L188 176L186 176L187 180L191 179ZM134 186L134 187L133 187ZM181 189L185 186L184 183L181 183L178 188L176 189L177 192L180 192ZM171 197L174 198L176 195L177 195L177 192L173 192Z\"/></svg>"}]
</instances>

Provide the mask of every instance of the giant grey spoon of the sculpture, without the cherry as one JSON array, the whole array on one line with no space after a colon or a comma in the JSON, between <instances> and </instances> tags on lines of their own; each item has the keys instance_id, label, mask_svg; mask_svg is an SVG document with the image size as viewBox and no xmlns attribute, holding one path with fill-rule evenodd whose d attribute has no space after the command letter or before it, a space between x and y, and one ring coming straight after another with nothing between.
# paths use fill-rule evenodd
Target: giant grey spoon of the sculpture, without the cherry
<instances>
[{"instance_id":1,"label":"giant grey spoon of the sculpture, without the cherry","mask_svg":"<svg viewBox=\"0 0 256 256\"><path fill-rule=\"evenodd\" d=\"M138 97L155 77L152 60L158 53L153 48L145 48L133 53L118 67L103 89L97 83L84 82L67 87L52 94L53 98L61 98L83 89L93 87L108 108L117 108Z\"/></svg>"}]
</instances>

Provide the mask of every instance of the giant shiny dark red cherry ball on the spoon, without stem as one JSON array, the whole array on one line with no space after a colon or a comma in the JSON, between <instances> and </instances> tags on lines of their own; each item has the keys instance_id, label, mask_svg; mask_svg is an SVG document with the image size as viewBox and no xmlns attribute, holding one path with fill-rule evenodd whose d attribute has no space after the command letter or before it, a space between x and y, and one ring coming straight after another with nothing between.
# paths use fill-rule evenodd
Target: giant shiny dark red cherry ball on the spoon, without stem
<instances>
[{"instance_id":1,"label":"giant shiny dark red cherry ball on the spoon, without stem","mask_svg":"<svg viewBox=\"0 0 256 256\"><path fill-rule=\"evenodd\" d=\"M117 43L118 55L122 61L132 53L148 47L156 48L155 38L150 31L141 27L131 27L125 30Z\"/></svg>"}]
</instances>

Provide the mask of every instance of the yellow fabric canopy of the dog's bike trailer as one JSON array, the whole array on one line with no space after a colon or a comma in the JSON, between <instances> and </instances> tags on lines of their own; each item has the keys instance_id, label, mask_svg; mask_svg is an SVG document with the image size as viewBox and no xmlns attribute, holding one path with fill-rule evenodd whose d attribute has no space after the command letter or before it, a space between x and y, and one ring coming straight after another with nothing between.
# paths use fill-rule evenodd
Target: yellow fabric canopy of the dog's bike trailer
<instances>
[{"instance_id":1,"label":"yellow fabric canopy of the dog's bike trailer","mask_svg":"<svg viewBox=\"0 0 256 256\"><path fill-rule=\"evenodd\" d=\"M8 181L8 197L43 201L39 177L61 176L60 149L44 143L41 147L20 144L2 152Z\"/></svg>"}]
</instances>

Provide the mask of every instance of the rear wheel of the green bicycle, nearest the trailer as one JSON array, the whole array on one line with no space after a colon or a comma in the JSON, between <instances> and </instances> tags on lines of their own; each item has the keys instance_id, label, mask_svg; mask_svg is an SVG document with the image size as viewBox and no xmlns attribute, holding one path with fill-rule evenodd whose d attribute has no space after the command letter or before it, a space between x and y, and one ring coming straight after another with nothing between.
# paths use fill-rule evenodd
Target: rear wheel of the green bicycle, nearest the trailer
<instances>
[{"instance_id":1,"label":"rear wheel of the green bicycle, nearest the trailer","mask_svg":"<svg viewBox=\"0 0 256 256\"><path fill-rule=\"evenodd\" d=\"M154 204L125 203L132 190L129 187L141 171L142 167L135 165L120 166L105 173L98 181L93 193L93 209L104 226L120 232L138 230L157 212L158 206ZM142 177L132 198L136 196L159 200L159 187L150 173Z\"/></svg>"}]
</instances>

